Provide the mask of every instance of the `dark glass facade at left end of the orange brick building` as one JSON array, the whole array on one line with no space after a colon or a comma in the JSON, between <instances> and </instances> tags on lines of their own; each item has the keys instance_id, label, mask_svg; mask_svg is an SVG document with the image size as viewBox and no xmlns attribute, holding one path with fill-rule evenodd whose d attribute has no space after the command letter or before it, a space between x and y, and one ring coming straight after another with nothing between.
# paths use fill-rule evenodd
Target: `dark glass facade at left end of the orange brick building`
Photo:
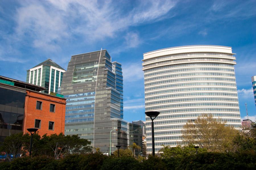
<instances>
[{"instance_id":1,"label":"dark glass facade at left end of the orange brick building","mask_svg":"<svg viewBox=\"0 0 256 170\"><path fill-rule=\"evenodd\" d=\"M22 132L26 91L0 87L0 142Z\"/></svg>"}]
</instances>

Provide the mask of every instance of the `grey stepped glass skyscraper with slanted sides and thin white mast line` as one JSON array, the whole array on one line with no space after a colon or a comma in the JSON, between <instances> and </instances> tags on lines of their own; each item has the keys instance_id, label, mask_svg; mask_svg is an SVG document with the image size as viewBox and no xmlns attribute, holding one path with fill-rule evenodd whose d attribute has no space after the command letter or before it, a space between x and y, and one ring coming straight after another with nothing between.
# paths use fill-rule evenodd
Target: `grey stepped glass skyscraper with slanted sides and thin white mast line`
<instances>
[{"instance_id":1,"label":"grey stepped glass skyscraper with slanted sides and thin white mast line","mask_svg":"<svg viewBox=\"0 0 256 170\"><path fill-rule=\"evenodd\" d=\"M109 153L110 131L117 129L111 133L112 152L117 144L127 148L122 68L107 50L71 56L59 93L67 99L65 135L78 134Z\"/></svg>"}]
</instances>

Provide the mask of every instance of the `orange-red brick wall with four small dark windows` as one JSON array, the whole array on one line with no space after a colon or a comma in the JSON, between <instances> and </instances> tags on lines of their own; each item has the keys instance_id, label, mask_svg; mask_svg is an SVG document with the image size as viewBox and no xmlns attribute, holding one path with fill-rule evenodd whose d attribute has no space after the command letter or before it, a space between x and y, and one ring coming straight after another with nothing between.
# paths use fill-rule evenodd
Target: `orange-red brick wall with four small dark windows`
<instances>
[{"instance_id":1,"label":"orange-red brick wall with four small dark windows","mask_svg":"<svg viewBox=\"0 0 256 170\"><path fill-rule=\"evenodd\" d=\"M64 133L66 99L40 92L26 90L23 132L35 128L35 119L41 120L39 135ZM36 102L42 102L42 109L36 109ZM55 112L50 112L50 104L55 105ZM54 130L49 130L49 121L54 122Z\"/></svg>"}]
</instances>

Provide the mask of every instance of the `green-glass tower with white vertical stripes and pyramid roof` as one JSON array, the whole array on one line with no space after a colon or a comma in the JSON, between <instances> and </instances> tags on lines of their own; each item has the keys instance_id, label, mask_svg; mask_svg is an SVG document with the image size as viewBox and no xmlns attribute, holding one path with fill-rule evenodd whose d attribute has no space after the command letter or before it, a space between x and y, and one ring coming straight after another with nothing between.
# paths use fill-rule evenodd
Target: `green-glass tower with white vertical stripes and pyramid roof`
<instances>
[{"instance_id":1,"label":"green-glass tower with white vertical stripes and pyramid roof","mask_svg":"<svg viewBox=\"0 0 256 170\"><path fill-rule=\"evenodd\" d=\"M51 59L47 59L27 71L26 82L45 87L46 89L41 91L43 93L56 93L61 86L64 72L65 69Z\"/></svg>"}]
</instances>

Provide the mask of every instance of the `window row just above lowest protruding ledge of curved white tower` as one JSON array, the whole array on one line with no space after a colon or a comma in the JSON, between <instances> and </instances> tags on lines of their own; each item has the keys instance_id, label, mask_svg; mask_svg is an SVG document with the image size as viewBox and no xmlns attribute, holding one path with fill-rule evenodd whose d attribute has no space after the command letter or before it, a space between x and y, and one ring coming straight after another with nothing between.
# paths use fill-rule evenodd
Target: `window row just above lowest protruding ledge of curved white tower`
<instances>
[{"instance_id":1,"label":"window row just above lowest protruding ledge of curved white tower","mask_svg":"<svg viewBox=\"0 0 256 170\"><path fill-rule=\"evenodd\" d=\"M163 64L170 64L170 63L178 63L178 62L191 62L191 61L221 61L221 62L231 62L235 63L233 59L220 59L220 58L190 58L190 59L174 59L174 60L169 60L169 61L160 61L157 63L152 63L148 65L144 65L143 68L148 68L156 65L163 65Z\"/></svg>"}]
</instances>

